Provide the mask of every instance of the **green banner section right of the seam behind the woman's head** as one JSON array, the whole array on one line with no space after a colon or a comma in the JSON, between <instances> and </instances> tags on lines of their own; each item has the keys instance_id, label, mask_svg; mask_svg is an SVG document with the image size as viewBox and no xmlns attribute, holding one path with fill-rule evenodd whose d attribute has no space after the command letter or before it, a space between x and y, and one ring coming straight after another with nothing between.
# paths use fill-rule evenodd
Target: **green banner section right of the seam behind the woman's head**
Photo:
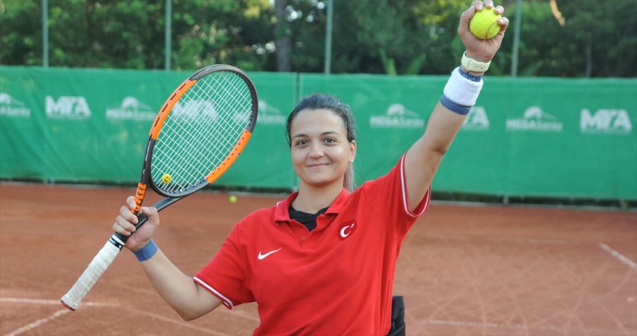
<instances>
[{"instance_id":1,"label":"green banner section right of the seam behind the woman's head","mask_svg":"<svg viewBox=\"0 0 637 336\"><path fill-rule=\"evenodd\" d=\"M357 119L358 182L385 174L422 136L447 77L303 74ZM503 196L637 198L637 80L485 78L432 183Z\"/></svg>"}]
</instances>

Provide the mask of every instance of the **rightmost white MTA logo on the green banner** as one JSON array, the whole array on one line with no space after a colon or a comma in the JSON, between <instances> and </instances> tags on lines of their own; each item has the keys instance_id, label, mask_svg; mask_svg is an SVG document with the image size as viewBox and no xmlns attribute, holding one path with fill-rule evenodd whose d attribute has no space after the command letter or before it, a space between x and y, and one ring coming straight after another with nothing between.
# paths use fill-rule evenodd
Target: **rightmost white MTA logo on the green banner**
<instances>
[{"instance_id":1,"label":"rightmost white MTA logo on the green banner","mask_svg":"<svg viewBox=\"0 0 637 336\"><path fill-rule=\"evenodd\" d=\"M588 109L580 113L580 131L583 133L631 133L633 124L625 109L598 109L595 114Z\"/></svg>"}]
</instances>

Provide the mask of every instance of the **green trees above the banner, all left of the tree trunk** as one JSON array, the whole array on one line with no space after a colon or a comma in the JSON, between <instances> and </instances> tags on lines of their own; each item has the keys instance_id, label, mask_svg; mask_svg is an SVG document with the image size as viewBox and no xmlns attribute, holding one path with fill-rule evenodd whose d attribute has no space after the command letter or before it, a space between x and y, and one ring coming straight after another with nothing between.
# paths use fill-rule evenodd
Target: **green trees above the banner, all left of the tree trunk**
<instances>
[{"instance_id":1,"label":"green trees above the banner, all left of the tree trunk","mask_svg":"<svg viewBox=\"0 0 637 336\"><path fill-rule=\"evenodd\" d=\"M175 68L231 63L258 70L268 64L268 0L173 4ZM163 68L164 6L147 0L49 1L50 65ZM0 0L2 64L42 64L41 13L41 1Z\"/></svg>"}]
</instances>

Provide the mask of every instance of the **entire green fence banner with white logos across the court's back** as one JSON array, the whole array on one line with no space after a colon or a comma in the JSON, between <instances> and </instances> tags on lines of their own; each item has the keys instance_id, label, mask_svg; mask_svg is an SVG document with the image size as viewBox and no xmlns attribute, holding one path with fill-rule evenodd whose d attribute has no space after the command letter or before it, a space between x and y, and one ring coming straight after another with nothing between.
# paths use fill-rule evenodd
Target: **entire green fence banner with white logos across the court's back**
<instances>
[{"instance_id":1,"label":"entire green fence banner with white logos across the court's back","mask_svg":"<svg viewBox=\"0 0 637 336\"><path fill-rule=\"evenodd\" d=\"M192 71L0 66L0 179L131 184L157 111ZM301 97L333 94L357 121L356 183L422 136L447 76L248 73L251 142L215 184L295 188L285 138ZM637 79L485 78L434 191L637 200Z\"/></svg>"}]
</instances>

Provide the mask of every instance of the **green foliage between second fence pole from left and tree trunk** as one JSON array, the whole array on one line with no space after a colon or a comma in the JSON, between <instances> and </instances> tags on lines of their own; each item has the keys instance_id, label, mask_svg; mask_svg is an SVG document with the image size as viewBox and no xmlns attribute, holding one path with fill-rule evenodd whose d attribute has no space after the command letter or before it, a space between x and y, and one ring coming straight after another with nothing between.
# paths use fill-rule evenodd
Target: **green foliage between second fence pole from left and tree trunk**
<instances>
[{"instance_id":1,"label":"green foliage between second fence pole from left and tree trunk","mask_svg":"<svg viewBox=\"0 0 637 336\"><path fill-rule=\"evenodd\" d=\"M234 64L260 70L272 63L274 11L268 0L174 0L173 67Z\"/></svg>"}]
</instances>

